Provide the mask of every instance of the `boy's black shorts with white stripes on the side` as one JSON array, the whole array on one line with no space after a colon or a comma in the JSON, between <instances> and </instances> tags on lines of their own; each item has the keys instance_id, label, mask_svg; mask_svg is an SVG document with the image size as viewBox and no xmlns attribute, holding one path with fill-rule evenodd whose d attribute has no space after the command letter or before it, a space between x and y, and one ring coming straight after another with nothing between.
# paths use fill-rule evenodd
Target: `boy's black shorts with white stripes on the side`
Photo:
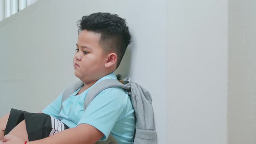
<instances>
[{"instance_id":1,"label":"boy's black shorts with white stripes on the side","mask_svg":"<svg viewBox=\"0 0 256 144\"><path fill-rule=\"evenodd\" d=\"M69 128L66 124L50 115L30 113L12 108L4 135L9 134L9 132L23 120L26 122L26 131L29 141L43 139Z\"/></svg>"}]
</instances>

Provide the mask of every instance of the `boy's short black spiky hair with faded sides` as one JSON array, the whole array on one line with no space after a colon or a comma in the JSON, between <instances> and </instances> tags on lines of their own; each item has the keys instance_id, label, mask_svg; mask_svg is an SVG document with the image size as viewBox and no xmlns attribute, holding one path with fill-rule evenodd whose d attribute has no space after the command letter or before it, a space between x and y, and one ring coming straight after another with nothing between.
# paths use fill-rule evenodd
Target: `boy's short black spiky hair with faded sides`
<instances>
[{"instance_id":1,"label":"boy's short black spiky hair with faded sides","mask_svg":"<svg viewBox=\"0 0 256 144\"><path fill-rule=\"evenodd\" d=\"M77 26L79 27L78 33L86 29L101 34L100 44L103 51L113 51L118 57L117 69L125 55L127 46L131 43L131 34L125 19L117 14L92 13L78 20Z\"/></svg>"}]
</instances>

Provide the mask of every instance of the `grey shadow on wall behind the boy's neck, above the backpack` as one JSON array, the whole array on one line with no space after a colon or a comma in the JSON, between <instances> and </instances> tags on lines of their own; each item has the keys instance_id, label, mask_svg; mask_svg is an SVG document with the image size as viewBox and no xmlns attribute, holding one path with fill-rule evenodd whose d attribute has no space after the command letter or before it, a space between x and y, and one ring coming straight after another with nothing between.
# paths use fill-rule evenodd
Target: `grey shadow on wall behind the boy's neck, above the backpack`
<instances>
[{"instance_id":1,"label":"grey shadow on wall behind the boy's neck, above the backpack","mask_svg":"<svg viewBox=\"0 0 256 144\"><path fill-rule=\"evenodd\" d=\"M129 45L126 49L125 55L118 67L118 69L115 70L115 74L121 74L124 79L125 77L129 76L131 72L131 45Z\"/></svg>"}]
</instances>

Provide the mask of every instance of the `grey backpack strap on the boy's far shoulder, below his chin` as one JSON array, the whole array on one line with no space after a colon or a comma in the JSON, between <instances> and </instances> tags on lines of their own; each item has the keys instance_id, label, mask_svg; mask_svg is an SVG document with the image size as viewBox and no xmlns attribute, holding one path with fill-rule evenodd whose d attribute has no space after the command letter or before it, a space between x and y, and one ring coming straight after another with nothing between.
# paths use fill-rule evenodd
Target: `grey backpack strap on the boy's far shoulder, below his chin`
<instances>
[{"instance_id":1,"label":"grey backpack strap on the boy's far shoulder, below his chin","mask_svg":"<svg viewBox=\"0 0 256 144\"><path fill-rule=\"evenodd\" d=\"M78 88L80 88L84 83L82 81L76 82L73 85L70 85L68 88L66 88L62 94L61 99L61 106L59 112L62 110L62 103L69 98L70 95L72 95Z\"/></svg>"}]
</instances>

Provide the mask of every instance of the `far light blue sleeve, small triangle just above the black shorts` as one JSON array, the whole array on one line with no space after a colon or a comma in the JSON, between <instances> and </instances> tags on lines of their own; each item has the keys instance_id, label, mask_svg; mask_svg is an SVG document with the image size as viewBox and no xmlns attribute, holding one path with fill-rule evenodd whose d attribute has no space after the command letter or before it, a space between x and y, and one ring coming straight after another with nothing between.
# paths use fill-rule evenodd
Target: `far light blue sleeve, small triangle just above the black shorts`
<instances>
[{"instance_id":1,"label":"far light blue sleeve, small triangle just above the black shorts","mask_svg":"<svg viewBox=\"0 0 256 144\"><path fill-rule=\"evenodd\" d=\"M61 106L62 94L60 94L51 104L47 105L46 108L42 110L42 112L44 114L51 115L54 118L59 119L59 110Z\"/></svg>"}]
</instances>

